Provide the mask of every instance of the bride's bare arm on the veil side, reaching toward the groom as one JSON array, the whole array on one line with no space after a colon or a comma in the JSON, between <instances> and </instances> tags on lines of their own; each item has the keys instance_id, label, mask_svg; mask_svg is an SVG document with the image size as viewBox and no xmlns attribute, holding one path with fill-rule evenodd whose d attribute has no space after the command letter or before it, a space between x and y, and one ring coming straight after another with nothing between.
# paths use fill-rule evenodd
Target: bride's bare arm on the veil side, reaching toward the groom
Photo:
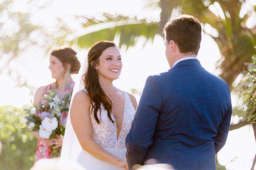
<instances>
[{"instance_id":1,"label":"bride's bare arm on the veil side, reaching toward the groom","mask_svg":"<svg viewBox=\"0 0 256 170\"><path fill-rule=\"evenodd\" d=\"M126 161L109 153L93 140L93 127L90 120L90 99L84 91L75 94L70 106L70 120L81 147L96 159L123 167Z\"/></svg>"}]
</instances>

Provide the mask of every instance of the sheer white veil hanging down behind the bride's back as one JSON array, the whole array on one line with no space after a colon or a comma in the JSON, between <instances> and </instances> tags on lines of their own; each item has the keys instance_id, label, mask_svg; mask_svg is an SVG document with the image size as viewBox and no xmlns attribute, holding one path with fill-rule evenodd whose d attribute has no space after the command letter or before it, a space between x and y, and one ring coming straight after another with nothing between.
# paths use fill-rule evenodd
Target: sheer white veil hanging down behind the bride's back
<instances>
[{"instance_id":1,"label":"sheer white veil hanging down behind the bride's back","mask_svg":"<svg viewBox=\"0 0 256 170\"><path fill-rule=\"evenodd\" d=\"M73 98L74 98L75 94L84 88L84 82L82 80L82 75L85 73L86 68L87 68L87 57L84 60L84 63L81 65L79 73L75 79L75 86L73 89L73 94L71 97L70 105L73 102ZM65 160L76 161L81 149L82 149L81 145L79 144L76 134L71 125L70 111L69 111L68 116L67 116L67 124L66 124L62 149L61 149L61 161L65 161Z\"/></svg>"}]
</instances>

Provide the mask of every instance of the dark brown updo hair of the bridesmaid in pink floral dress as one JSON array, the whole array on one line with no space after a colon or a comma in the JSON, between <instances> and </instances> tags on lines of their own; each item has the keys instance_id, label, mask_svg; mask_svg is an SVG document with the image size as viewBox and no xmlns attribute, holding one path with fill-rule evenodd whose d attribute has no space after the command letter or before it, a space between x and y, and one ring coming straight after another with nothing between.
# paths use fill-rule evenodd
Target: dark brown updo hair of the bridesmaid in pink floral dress
<instances>
[{"instance_id":1,"label":"dark brown updo hair of the bridesmaid in pink floral dress","mask_svg":"<svg viewBox=\"0 0 256 170\"><path fill-rule=\"evenodd\" d=\"M71 74L78 74L78 71L81 67L81 64L76 57L76 51L72 48L58 48L51 52L51 55L57 57L63 64L64 68L65 64L70 64L70 73Z\"/></svg>"}]
</instances>

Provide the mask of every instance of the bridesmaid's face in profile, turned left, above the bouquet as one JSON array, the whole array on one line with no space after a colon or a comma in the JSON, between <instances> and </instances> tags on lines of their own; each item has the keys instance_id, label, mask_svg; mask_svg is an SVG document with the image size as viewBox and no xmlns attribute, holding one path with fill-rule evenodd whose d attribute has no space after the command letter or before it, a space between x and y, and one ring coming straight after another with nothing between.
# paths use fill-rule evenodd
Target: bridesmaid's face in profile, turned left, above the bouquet
<instances>
[{"instance_id":1,"label":"bridesmaid's face in profile, turned left, above the bouquet","mask_svg":"<svg viewBox=\"0 0 256 170\"><path fill-rule=\"evenodd\" d=\"M53 79L61 79L65 73L65 68L63 67L61 60L52 55L50 56L49 69L52 72Z\"/></svg>"}]
</instances>

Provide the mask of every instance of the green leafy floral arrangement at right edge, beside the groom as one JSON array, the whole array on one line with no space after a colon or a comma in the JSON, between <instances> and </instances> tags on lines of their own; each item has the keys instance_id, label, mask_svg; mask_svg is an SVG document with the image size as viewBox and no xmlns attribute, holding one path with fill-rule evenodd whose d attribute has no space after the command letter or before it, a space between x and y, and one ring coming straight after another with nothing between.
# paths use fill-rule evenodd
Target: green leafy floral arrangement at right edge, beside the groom
<instances>
[{"instance_id":1,"label":"green leafy floral arrangement at right edge, beside the groom","mask_svg":"<svg viewBox=\"0 0 256 170\"><path fill-rule=\"evenodd\" d=\"M243 77L236 88L242 101L245 118L247 121L256 122L256 55L253 55L252 62L246 62L247 71L243 71Z\"/></svg>"}]
</instances>

